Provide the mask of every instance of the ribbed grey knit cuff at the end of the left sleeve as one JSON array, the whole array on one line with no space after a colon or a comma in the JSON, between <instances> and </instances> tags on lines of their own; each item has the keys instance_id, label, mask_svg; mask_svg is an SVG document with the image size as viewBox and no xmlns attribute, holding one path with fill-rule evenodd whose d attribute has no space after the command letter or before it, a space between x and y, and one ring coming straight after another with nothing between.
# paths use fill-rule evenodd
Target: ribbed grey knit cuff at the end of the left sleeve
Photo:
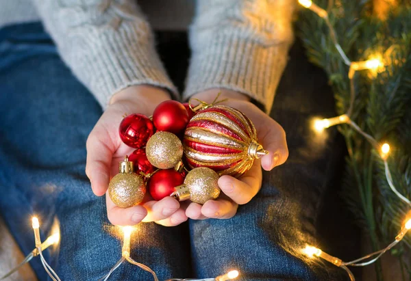
<instances>
[{"instance_id":1,"label":"ribbed grey knit cuff at the end of the left sleeve","mask_svg":"<svg viewBox=\"0 0 411 281\"><path fill-rule=\"evenodd\" d=\"M155 52L149 31L142 34L133 22L121 29L89 29L84 44L77 52L69 51L68 63L77 77L88 86L105 109L110 98L130 85L148 84L169 90L177 98L177 90Z\"/></svg>"}]
</instances>

